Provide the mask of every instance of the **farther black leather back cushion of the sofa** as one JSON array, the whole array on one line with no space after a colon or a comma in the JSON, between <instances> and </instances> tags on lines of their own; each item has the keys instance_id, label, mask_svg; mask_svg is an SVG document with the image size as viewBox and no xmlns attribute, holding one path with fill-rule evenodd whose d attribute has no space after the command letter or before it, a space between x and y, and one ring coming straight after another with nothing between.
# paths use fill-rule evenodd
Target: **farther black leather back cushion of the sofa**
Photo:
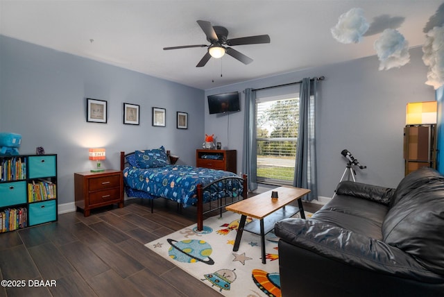
<instances>
[{"instance_id":1,"label":"farther black leather back cushion of the sofa","mask_svg":"<svg viewBox=\"0 0 444 297\"><path fill-rule=\"evenodd\" d=\"M409 194L413 189L434 180L444 180L444 177L441 176L438 171L430 167L421 167L420 169L409 173L409 175L401 180L398 187L396 187L393 198L391 199L391 206L400 202L401 199Z\"/></svg>"}]
</instances>

